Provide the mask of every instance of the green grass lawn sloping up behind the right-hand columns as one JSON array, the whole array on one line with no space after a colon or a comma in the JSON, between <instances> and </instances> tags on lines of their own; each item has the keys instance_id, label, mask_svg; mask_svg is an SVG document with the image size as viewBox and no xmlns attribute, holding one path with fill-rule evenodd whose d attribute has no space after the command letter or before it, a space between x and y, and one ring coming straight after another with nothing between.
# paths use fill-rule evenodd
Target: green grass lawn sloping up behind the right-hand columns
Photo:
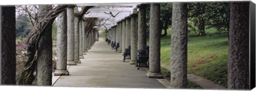
<instances>
[{"instance_id":1,"label":"green grass lawn sloping up behind the right-hand columns","mask_svg":"<svg viewBox=\"0 0 256 91\"><path fill-rule=\"evenodd\" d=\"M216 30L206 29L212 36L188 36L188 73L214 81L227 87L228 35L223 32L215 36ZM147 45L149 40L147 39ZM171 28L161 38L161 63L170 65Z\"/></svg>"}]
</instances>

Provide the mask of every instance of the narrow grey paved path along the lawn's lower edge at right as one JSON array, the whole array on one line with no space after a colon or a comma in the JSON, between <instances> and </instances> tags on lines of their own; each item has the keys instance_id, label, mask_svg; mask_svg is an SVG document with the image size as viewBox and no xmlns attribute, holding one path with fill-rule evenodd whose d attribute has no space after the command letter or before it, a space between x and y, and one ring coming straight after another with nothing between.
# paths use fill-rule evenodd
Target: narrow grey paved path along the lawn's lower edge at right
<instances>
[{"instance_id":1,"label":"narrow grey paved path along the lawn's lower edge at right","mask_svg":"<svg viewBox=\"0 0 256 91\"><path fill-rule=\"evenodd\" d=\"M171 70L171 67L166 64L161 64L161 67ZM195 75L188 74L188 80L195 82L196 84L200 85L204 89L227 89L226 87L220 86L218 84L214 84L211 80L207 80L202 77L198 77Z\"/></svg>"}]
</instances>

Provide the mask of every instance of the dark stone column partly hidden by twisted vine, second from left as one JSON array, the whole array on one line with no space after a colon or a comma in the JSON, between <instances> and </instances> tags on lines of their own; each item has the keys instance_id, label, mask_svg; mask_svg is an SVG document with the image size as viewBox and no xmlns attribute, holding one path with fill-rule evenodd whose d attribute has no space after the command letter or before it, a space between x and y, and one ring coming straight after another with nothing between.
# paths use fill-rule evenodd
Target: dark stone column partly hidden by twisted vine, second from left
<instances>
[{"instance_id":1,"label":"dark stone column partly hidden by twisted vine, second from left","mask_svg":"<svg viewBox=\"0 0 256 91\"><path fill-rule=\"evenodd\" d=\"M39 22L44 22L44 16L52 5L39 6ZM37 85L52 85L52 24L45 26L45 32L39 41L37 57Z\"/></svg>"}]
</instances>

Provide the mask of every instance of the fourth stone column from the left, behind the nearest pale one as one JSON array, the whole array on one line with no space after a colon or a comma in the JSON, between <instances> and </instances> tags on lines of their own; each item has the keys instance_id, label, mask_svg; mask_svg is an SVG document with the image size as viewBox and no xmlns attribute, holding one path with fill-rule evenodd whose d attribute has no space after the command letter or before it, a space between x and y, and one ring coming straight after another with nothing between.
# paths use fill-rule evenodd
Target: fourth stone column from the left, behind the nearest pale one
<instances>
[{"instance_id":1,"label":"fourth stone column from the left, behind the nearest pale one","mask_svg":"<svg viewBox=\"0 0 256 91\"><path fill-rule=\"evenodd\" d=\"M74 6L67 8L67 21L68 21L68 65L76 65L74 59Z\"/></svg>"}]
</instances>

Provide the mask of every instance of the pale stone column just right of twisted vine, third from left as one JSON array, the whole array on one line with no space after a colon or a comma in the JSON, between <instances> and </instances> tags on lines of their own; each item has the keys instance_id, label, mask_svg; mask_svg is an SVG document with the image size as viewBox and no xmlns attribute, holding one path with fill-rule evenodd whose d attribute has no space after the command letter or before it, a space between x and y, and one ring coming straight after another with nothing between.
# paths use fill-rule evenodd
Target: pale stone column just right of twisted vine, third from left
<instances>
[{"instance_id":1,"label":"pale stone column just right of twisted vine, third from left","mask_svg":"<svg viewBox=\"0 0 256 91\"><path fill-rule=\"evenodd\" d=\"M67 11L58 16L57 61L54 76L69 75L67 70Z\"/></svg>"}]
</instances>

